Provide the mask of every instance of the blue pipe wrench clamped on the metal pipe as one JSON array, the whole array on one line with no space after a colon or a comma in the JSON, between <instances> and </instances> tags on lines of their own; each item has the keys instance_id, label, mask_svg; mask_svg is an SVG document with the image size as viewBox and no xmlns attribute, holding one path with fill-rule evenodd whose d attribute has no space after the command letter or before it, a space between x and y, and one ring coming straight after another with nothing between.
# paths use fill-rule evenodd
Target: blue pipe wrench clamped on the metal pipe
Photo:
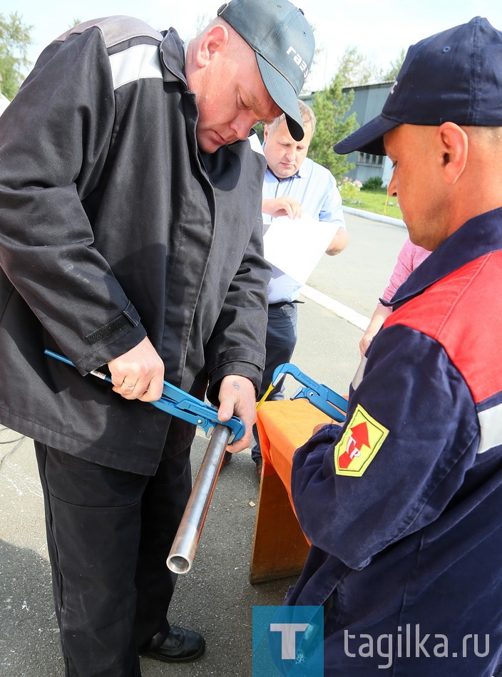
<instances>
[{"instance_id":1,"label":"blue pipe wrench clamped on the metal pipe","mask_svg":"<svg viewBox=\"0 0 502 677\"><path fill-rule=\"evenodd\" d=\"M73 362L59 353L54 353L50 350L44 352L46 355L53 357L60 362L69 364L72 367L75 366ZM96 370L91 371L90 373L93 376L103 379L103 381L108 381L108 383L112 382L110 376L106 373ZM231 435L229 442L237 442L237 440L240 440L242 435L244 435L244 423L242 423L240 418L232 416L232 418L227 421L218 420L217 409L198 400L198 398L195 398L193 395L185 393L181 388L177 388L167 381L164 381L160 400L148 402L147 404L153 404L154 407L157 407L176 418L183 418L183 420L188 421L188 423L200 425L205 431L206 437L210 436L216 425L226 425L227 428L230 428Z\"/></svg>"}]
</instances>

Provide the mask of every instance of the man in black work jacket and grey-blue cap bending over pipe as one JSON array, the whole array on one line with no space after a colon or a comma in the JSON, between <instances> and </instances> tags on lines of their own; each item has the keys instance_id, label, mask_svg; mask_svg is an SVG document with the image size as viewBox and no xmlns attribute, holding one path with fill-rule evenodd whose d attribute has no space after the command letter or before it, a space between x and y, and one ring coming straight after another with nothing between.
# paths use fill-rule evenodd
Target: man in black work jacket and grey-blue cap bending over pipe
<instances>
[{"instance_id":1,"label":"man in black work jacket and grey-blue cap bending over pipe","mask_svg":"<svg viewBox=\"0 0 502 677\"><path fill-rule=\"evenodd\" d=\"M270 278L250 130L284 112L302 138L314 54L287 0L217 15L188 45L128 16L80 24L0 120L0 418L36 440L67 677L204 653L166 617L195 430L149 402L163 379L207 392L245 423L233 450L250 443ZM113 390L83 378L103 365Z\"/></svg>"}]
</instances>

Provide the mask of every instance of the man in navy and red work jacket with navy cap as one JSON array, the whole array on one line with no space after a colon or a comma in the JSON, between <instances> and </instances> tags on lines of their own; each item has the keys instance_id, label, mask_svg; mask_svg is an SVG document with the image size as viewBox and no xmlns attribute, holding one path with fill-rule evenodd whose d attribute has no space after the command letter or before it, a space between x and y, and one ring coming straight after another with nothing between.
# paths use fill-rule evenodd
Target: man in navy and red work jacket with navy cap
<instances>
[{"instance_id":1,"label":"man in navy and red work jacket with navy cap","mask_svg":"<svg viewBox=\"0 0 502 677\"><path fill-rule=\"evenodd\" d=\"M294 455L312 548L285 604L324 605L326 676L491 677L502 645L502 33L476 17L409 48L381 115L334 148L389 155L389 194L432 253L391 300L346 423Z\"/></svg>"}]
</instances>

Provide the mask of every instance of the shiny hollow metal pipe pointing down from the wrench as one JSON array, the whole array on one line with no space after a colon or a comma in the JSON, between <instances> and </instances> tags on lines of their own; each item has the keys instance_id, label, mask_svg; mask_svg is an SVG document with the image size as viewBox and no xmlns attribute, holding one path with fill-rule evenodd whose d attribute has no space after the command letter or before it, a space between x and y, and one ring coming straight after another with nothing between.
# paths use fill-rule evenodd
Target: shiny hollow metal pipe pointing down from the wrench
<instances>
[{"instance_id":1,"label":"shiny hollow metal pipe pointing down from the wrench","mask_svg":"<svg viewBox=\"0 0 502 677\"><path fill-rule=\"evenodd\" d=\"M227 425L221 424L216 425L212 431L187 507L168 554L168 568L175 574L187 574L192 568L195 550L231 434L232 430Z\"/></svg>"}]
</instances>

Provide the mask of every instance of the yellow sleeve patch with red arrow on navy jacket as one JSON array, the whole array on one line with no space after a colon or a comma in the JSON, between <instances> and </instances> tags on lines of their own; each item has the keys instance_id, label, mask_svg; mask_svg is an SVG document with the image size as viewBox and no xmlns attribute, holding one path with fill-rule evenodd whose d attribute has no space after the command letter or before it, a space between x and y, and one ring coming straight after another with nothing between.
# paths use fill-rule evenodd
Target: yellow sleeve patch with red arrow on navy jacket
<instances>
[{"instance_id":1,"label":"yellow sleeve patch with red arrow on navy jacket","mask_svg":"<svg viewBox=\"0 0 502 677\"><path fill-rule=\"evenodd\" d=\"M342 438L334 448L334 470L337 475L364 475L387 435L389 430L358 404Z\"/></svg>"}]
</instances>

